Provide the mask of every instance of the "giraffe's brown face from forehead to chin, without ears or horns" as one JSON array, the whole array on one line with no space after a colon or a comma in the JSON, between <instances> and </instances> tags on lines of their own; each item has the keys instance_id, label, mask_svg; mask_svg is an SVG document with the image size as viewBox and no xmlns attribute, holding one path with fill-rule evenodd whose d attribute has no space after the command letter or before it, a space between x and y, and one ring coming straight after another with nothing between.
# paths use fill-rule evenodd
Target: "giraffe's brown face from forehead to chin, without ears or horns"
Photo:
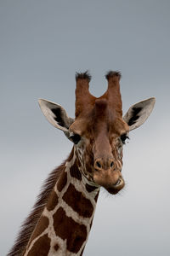
<instances>
[{"instance_id":1,"label":"giraffe's brown face from forehead to chin, without ears or horns","mask_svg":"<svg viewBox=\"0 0 170 256\"><path fill-rule=\"evenodd\" d=\"M116 117L106 99L97 99L88 116L77 117L69 130L82 173L109 193L118 193L124 186L122 146L127 123Z\"/></svg>"}]
</instances>

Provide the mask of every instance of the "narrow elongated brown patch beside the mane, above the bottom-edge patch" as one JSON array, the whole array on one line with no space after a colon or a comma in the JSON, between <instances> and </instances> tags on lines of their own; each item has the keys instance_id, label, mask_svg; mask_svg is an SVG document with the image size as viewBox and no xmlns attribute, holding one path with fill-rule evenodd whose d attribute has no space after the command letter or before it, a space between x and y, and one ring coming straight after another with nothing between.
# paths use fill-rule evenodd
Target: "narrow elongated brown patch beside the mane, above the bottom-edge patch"
<instances>
[{"instance_id":1,"label":"narrow elongated brown patch beside the mane, above the bottom-edge patch","mask_svg":"<svg viewBox=\"0 0 170 256\"><path fill-rule=\"evenodd\" d=\"M37 223L36 230L32 233L31 241L33 241L37 236L41 235L42 232L48 228L48 224L48 218L42 216ZM28 247L30 247L31 241L29 241Z\"/></svg>"}]
</instances>

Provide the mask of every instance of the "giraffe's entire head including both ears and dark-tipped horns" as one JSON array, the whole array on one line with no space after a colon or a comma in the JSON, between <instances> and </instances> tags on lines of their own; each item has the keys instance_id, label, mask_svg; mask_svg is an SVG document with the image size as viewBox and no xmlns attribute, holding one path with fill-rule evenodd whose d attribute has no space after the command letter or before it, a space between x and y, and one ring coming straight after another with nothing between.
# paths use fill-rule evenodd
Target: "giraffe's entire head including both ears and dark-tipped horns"
<instances>
[{"instance_id":1,"label":"giraffe's entire head including both ears and dark-tipped horns","mask_svg":"<svg viewBox=\"0 0 170 256\"><path fill-rule=\"evenodd\" d=\"M154 108L155 98L138 102L122 117L121 74L109 72L108 89L96 98L88 90L90 75L77 73L76 117L68 117L59 104L39 100L48 121L65 132L75 147L77 162L89 182L116 194L124 186L122 148L129 131L139 127Z\"/></svg>"}]
</instances>

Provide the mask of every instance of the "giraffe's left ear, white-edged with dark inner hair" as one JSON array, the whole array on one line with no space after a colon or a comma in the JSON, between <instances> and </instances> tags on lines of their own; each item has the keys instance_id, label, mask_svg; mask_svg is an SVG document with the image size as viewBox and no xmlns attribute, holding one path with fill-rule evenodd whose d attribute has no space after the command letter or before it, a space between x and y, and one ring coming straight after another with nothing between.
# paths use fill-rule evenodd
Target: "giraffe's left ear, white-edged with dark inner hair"
<instances>
[{"instance_id":1,"label":"giraffe's left ear, white-edged with dark inner hair","mask_svg":"<svg viewBox=\"0 0 170 256\"><path fill-rule=\"evenodd\" d=\"M70 137L69 127L74 122L74 119L68 117L65 109L59 104L43 99L39 99L38 103L48 122L59 130L64 131L66 137Z\"/></svg>"}]
</instances>

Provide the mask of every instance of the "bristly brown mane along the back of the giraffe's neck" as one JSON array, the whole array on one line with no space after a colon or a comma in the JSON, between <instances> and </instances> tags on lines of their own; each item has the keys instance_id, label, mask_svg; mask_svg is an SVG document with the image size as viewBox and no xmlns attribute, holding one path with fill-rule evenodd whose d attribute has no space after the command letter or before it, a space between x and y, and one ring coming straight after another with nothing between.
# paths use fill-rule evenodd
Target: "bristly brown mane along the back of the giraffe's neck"
<instances>
[{"instance_id":1,"label":"bristly brown mane along the back of the giraffe's neck","mask_svg":"<svg viewBox=\"0 0 170 256\"><path fill-rule=\"evenodd\" d=\"M71 155L69 156L69 158ZM67 160L69 160L69 158ZM38 219L41 217L42 211L48 202L48 197L51 191L54 189L54 185L59 179L61 172L65 167L66 160L52 172L49 173L47 179L42 184L40 194L37 196L37 201L34 204L30 214L20 227L19 235L17 236L14 246L11 248L7 256L21 256L28 241L31 238L31 234L37 225Z\"/></svg>"}]
</instances>

